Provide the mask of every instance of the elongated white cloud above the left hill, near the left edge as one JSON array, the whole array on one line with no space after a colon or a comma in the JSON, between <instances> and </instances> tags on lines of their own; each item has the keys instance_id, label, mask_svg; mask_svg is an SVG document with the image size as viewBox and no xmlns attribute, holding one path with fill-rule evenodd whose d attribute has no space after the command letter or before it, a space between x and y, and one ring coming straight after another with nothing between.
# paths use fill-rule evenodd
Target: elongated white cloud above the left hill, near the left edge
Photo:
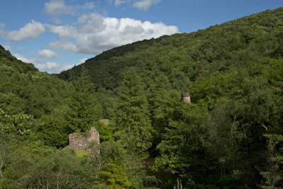
<instances>
[{"instance_id":1,"label":"elongated white cloud above the left hill, near the left edge","mask_svg":"<svg viewBox=\"0 0 283 189\"><path fill-rule=\"evenodd\" d=\"M19 30L13 30L8 33L8 40L21 41L30 38L37 38L45 32L45 27L42 23L31 21L31 23L25 24Z\"/></svg>"}]
</instances>

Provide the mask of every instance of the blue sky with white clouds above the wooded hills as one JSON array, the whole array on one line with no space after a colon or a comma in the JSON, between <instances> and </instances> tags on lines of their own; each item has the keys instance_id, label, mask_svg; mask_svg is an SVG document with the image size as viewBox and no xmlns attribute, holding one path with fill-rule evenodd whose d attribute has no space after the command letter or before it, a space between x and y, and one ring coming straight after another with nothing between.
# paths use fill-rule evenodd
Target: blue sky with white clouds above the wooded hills
<instances>
[{"instance_id":1,"label":"blue sky with white clouds above the wooded hills","mask_svg":"<svg viewBox=\"0 0 283 189\"><path fill-rule=\"evenodd\" d=\"M113 47L282 6L283 0L0 0L0 45L52 74Z\"/></svg>"}]
</instances>

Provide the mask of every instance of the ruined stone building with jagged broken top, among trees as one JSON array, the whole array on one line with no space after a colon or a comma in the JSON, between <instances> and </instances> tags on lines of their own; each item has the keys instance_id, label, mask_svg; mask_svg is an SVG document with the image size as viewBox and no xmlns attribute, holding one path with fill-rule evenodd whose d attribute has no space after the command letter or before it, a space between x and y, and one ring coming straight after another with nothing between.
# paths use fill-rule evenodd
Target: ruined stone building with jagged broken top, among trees
<instances>
[{"instance_id":1,"label":"ruined stone building with jagged broken top, among trees","mask_svg":"<svg viewBox=\"0 0 283 189\"><path fill-rule=\"evenodd\" d=\"M87 134L73 133L69 134L69 146L75 151L85 150L88 144L91 142L99 142L99 132L95 127L91 127L91 130Z\"/></svg>"}]
</instances>

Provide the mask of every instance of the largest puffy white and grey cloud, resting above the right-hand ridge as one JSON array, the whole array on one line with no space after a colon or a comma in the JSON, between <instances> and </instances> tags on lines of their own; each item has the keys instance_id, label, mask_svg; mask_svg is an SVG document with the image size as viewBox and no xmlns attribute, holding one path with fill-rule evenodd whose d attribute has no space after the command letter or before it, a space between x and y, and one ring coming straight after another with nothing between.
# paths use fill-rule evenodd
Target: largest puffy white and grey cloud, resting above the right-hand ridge
<instances>
[{"instance_id":1,"label":"largest puffy white and grey cloud, resting above the right-hand ridge","mask_svg":"<svg viewBox=\"0 0 283 189\"><path fill-rule=\"evenodd\" d=\"M112 47L138 40L158 38L178 33L178 28L164 23L151 23L132 18L109 18L97 13L83 15L79 25L47 25L47 29L62 39L50 47L71 52L98 54Z\"/></svg>"}]
</instances>

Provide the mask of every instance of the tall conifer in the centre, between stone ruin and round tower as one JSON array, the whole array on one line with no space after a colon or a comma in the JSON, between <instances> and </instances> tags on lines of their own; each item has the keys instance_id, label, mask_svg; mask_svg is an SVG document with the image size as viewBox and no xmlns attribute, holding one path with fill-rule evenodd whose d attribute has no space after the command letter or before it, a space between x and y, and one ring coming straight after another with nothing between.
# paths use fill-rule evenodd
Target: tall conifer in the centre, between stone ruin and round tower
<instances>
[{"instance_id":1,"label":"tall conifer in the centre, between stone ruin and round tower","mask_svg":"<svg viewBox=\"0 0 283 189\"><path fill-rule=\"evenodd\" d=\"M122 84L117 89L116 134L127 149L140 153L151 147L148 102L144 85L134 69L128 69L122 76Z\"/></svg>"}]
</instances>

